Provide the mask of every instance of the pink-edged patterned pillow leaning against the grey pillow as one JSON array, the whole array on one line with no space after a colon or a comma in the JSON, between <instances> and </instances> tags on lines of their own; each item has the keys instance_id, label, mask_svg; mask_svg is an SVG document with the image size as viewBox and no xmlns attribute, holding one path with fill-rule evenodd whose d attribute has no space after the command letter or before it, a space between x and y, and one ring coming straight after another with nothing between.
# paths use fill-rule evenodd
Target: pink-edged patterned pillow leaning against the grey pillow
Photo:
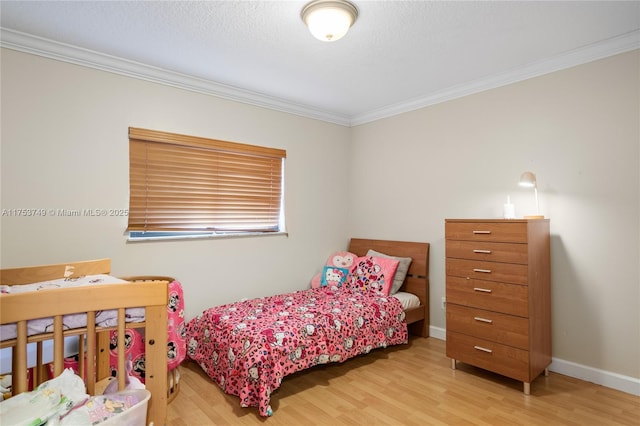
<instances>
[{"instance_id":1,"label":"pink-edged patterned pillow leaning against the grey pillow","mask_svg":"<svg viewBox=\"0 0 640 426\"><path fill-rule=\"evenodd\" d=\"M351 269L347 285L360 291L380 291L388 296L399 263L385 257L359 257Z\"/></svg>"}]
</instances>

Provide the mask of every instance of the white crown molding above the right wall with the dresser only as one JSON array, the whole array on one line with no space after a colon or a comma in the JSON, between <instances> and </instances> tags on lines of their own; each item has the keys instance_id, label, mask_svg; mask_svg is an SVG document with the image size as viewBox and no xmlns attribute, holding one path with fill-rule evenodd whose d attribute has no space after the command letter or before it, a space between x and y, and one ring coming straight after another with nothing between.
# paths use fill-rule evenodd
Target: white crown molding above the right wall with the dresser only
<instances>
[{"instance_id":1,"label":"white crown molding above the right wall with the dresser only","mask_svg":"<svg viewBox=\"0 0 640 426\"><path fill-rule=\"evenodd\" d=\"M635 49L640 49L640 30L565 52L553 58L534 62L507 72L450 87L427 96L417 97L412 100L369 111L352 117L350 124L351 126L357 126L405 112L415 111L427 106L517 83Z\"/></svg>"}]
</instances>

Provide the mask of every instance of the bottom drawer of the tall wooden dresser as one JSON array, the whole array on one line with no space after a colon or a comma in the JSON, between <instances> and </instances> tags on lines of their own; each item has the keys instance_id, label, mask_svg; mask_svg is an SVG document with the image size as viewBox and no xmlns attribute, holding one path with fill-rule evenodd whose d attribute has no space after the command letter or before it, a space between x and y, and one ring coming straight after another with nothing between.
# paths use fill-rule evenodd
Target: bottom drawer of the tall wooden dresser
<instances>
[{"instance_id":1,"label":"bottom drawer of the tall wooden dresser","mask_svg":"<svg viewBox=\"0 0 640 426\"><path fill-rule=\"evenodd\" d=\"M449 331L447 356L522 382L531 382L529 352Z\"/></svg>"}]
</instances>

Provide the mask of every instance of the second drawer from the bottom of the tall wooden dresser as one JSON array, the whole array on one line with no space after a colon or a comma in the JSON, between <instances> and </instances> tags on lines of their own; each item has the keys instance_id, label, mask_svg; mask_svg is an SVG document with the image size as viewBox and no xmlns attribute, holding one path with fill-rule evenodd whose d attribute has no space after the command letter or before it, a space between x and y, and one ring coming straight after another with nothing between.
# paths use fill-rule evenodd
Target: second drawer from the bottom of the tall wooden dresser
<instances>
[{"instance_id":1,"label":"second drawer from the bottom of the tall wooden dresser","mask_svg":"<svg viewBox=\"0 0 640 426\"><path fill-rule=\"evenodd\" d=\"M447 303L447 330L520 349L529 347L529 320L513 315Z\"/></svg>"}]
</instances>

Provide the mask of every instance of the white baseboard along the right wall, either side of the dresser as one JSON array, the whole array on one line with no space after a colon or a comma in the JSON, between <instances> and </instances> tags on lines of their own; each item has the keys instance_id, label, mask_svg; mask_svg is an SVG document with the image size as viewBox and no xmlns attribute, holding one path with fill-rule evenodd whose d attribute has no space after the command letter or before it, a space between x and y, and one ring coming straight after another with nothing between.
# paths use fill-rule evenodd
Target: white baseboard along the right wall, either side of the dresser
<instances>
[{"instance_id":1,"label":"white baseboard along the right wall, either side of the dresser","mask_svg":"<svg viewBox=\"0 0 640 426\"><path fill-rule=\"evenodd\" d=\"M429 337L447 340L447 330L440 327L429 327ZM554 373L595 383L621 392L640 396L640 379L625 376L611 371L600 370L587 365L576 364L564 359L551 358L549 370Z\"/></svg>"}]
</instances>

